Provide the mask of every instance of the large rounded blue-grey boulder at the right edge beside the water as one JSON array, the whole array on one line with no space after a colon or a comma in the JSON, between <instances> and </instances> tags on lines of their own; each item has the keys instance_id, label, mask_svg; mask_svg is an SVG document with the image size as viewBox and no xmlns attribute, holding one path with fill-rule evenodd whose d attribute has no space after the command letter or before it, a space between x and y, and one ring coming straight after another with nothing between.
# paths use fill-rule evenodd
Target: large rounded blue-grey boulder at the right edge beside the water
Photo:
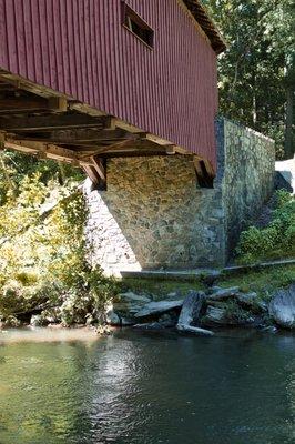
<instances>
[{"instance_id":1,"label":"large rounded blue-grey boulder at the right edge beside the water","mask_svg":"<svg viewBox=\"0 0 295 444\"><path fill-rule=\"evenodd\" d=\"M295 284L278 290L269 303L269 315L284 329L295 327Z\"/></svg>"}]
</instances>

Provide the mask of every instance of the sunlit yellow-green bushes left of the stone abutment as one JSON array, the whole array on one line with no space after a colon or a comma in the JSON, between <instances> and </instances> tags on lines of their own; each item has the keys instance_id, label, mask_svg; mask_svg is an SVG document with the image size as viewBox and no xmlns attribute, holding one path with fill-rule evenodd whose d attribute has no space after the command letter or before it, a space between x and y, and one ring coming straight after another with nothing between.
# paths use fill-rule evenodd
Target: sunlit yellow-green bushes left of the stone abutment
<instances>
[{"instance_id":1,"label":"sunlit yellow-green bushes left of the stone abutment","mask_svg":"<svg viewBox=\"0 0 295 444\"><path fill-rule=\"evenodd\" d=\"M67 325L100 321L116 284L85 260L83 195L74 179L61 185L55 174L44 180L42 169L2 189L0 319L54 307Z\"/></svg>"}]
</instances>

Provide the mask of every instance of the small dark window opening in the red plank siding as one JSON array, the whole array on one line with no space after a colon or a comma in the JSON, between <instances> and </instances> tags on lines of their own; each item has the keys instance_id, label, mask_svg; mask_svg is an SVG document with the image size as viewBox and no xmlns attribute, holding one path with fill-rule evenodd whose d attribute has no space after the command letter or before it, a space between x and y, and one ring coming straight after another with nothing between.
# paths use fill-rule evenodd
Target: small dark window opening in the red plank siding
<instances>
[{"instance_id":1,"label":"small dark window opening in the red plank siding","mask_svg":"<svg viewBox=\"0 0 295 444\"><path fill-rule=\"evenodd\" d=\"M148 47L153 48L153 29L125 2L122 2L122 23L124 28L138 37L143 43L148 44Z\"/></svg>"}]
</instances>

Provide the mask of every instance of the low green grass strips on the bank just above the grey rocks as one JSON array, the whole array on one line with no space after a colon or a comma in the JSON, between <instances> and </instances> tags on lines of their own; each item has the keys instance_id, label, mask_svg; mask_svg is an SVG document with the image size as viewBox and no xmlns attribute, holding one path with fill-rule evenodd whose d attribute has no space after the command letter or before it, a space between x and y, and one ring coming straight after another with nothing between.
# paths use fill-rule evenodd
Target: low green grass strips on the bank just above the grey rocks
<instances>
[{"instance_id":1,"label":"low green grass strips on the bank just above the grey rocks","mask_svg":"<svg viewBox=\"0 0 295 444\"><path fill-rule=\"evenodd\" d=\"M247 270L235 274L223 274L214 283L222 287L240 286L242 291L255 291L262 299L269 299L275 290L295 282L295 265L271 266L261 270ZM191 281L172 279L123 279L120 282L121 292L153 294L155 300L164 299L169 293L179 292L184 296L189 290L206 290L202 278Z\"/></svg>"}]
</instances>

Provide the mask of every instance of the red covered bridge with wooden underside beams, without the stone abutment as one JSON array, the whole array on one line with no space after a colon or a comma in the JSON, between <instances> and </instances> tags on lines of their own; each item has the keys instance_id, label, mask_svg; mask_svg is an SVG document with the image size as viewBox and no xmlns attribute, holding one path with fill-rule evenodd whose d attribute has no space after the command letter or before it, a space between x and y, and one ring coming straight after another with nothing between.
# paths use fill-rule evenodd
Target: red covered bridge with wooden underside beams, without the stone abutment
<instances>
[{"instance_id":1,"label":"red covered bridge with wooden underside beams, without the stone abutment","mask_svg":"<svg viewBox=\"0 0 295 444\"><path fill-rule=\"evenodd\" d=\"M0 41L3 148L101 186L118 155L193 153L214 175L225 44L200 1L0 0Z\"/></svg>"}]
</instances>

